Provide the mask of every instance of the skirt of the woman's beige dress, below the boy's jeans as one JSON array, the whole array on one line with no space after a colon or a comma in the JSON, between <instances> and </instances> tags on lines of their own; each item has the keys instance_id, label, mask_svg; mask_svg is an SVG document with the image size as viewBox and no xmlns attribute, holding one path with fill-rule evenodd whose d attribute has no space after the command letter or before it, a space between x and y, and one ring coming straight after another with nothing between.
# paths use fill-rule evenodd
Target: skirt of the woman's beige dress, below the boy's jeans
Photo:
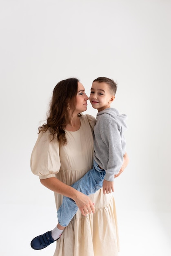
<instances>
[{"instance_id":1,"label":"skirt of the woman's beige dress, below the boy's jeans","mask_svg":"<svg viewBox=\"0 0 171 256\"><path fill-rule=\"evenodd\" d=\"M104 200L101 198L104 197L107 203L102 206ZM113 195L103 195L100 189L91 195L93 199L98 206L95 213L83 216L78 210L56 242L54 256L118 256L118 225Z\"/></svg>"}]
</instances>

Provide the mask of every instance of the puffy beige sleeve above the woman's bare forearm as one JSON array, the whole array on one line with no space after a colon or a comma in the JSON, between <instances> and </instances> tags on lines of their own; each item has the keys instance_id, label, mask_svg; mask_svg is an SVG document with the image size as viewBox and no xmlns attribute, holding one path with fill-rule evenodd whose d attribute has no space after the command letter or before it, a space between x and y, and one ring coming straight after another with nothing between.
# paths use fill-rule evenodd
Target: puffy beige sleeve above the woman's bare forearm
<instances>
[{"instance_id":1,"label":"puffy beige sleeve above the woman's bare forearm","mask_svg":"<svg viewBox=\"0 0 171 256\"><path fill-rule=\"evenodd\" d=\"M56 177L60 170L59 144L56 139L51 141L49 131L40 132L31 153L31 171L40 179Z\"/></svg>"}]
</instances>

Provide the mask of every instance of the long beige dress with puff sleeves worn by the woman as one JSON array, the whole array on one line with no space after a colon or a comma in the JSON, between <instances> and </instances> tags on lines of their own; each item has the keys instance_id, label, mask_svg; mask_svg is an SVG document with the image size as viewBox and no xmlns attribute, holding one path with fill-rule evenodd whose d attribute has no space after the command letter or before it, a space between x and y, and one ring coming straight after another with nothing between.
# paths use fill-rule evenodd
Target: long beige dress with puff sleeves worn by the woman
<instances>
[{"instance_id":1,"label":"long beige dress with puff sleeves worn by the woman","mask_svg":"<svg viewBox=\"0 0 171 256\"><path fill-rule=\"evenodd\" d=\"M57 177L71 185L92 168L95 118L80 117L80 129L66 131L67 145L59 148L56 139L50 142L49 132L40 132L31 155L31 170L40 179ZM76 213L56 242L54 256L117 256L118 227L112 194L103 195L102 189L90 195L95 213L82 216ZM56 208L62 195L55 193ZM46 213L44 213L46 214Z\"/></svg>"}]
</instances>

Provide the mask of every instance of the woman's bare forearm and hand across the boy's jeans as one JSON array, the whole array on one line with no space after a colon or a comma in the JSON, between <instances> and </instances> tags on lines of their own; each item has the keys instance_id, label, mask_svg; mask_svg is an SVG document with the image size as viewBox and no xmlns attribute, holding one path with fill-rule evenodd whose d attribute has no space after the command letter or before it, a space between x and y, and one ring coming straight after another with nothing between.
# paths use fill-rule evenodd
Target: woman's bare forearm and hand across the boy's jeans
<instances>
[{"instance_id":1,"label":"woman's bare forearm and hand across the boy's jeans","mask_svg":"<svg viewBox=\"0 0 171 256\"><path fill-rule=\"evenodd\" d=\"M93 202L91 202L90 198L87 195L84 195L73 187L64 184L56 177L41 179L40 182L42 183L42 185L46 186L53 192L73 199L76 202L78 208L80 209L82 215L85 216L87 213L91 213L91 211L92 213L95 212L94 204Z\"/></svg>"}]
</instances>

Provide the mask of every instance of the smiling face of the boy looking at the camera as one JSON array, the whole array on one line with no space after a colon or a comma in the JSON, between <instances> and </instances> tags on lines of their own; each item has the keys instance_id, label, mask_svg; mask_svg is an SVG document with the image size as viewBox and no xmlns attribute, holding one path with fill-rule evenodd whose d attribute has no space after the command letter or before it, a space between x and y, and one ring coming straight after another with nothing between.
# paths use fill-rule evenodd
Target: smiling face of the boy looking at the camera
<instances>
[{"instance_id":1,"label":"smiling face of the boy looking at the camera","mask_svg":"<svg viewBox=\"0 0 171 256\"><path fill-rule=\"evenodd\" d=\"M90 92L90 102L98 112L110 108L111 102L115 99L107 83L93 82Z\"/></svg>"}]
</instances>

